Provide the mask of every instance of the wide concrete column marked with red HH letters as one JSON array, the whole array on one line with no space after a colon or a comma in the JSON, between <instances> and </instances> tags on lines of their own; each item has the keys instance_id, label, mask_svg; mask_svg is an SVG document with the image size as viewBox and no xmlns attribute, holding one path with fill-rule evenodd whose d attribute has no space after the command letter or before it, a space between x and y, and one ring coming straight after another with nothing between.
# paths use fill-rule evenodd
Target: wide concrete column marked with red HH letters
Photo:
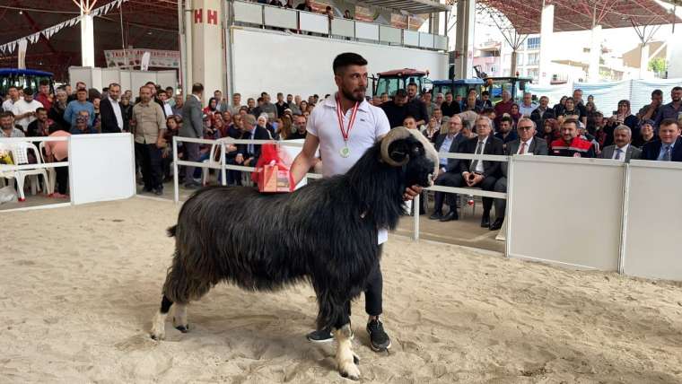
<instances>
[{"instance_id":1,"label":"wide concrete column marked with red HH letters","mask_svg":"<svg viewBox=\"0 0 682 384\"><path fill-rule=\"evenodd\" d=\"M225 93L222 10L220 0L192 1L192 82L204 84L204 102L215 90Z\"/></svg>"}]
</instances>

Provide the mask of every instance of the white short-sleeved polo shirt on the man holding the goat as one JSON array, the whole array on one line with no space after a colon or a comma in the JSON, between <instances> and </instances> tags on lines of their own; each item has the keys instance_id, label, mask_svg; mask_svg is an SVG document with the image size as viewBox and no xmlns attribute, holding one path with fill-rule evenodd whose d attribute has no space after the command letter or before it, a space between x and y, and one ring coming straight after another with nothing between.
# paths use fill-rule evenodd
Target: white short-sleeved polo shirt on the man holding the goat
<instances>
[{"instance_id":1,"label":"white short-sleeved polo shirt on the man holding the goat","mask_svg":"<svg viewBox=\"0 0 682 384\"><path fill-rule=\"evenodd\" d=\"M338 126L337 94L329 96L312 109L308 118L306 130L310 135L319 138L319 153L322 156L322 175L325 178L344 174L360 160L365 151L372 147L382 135L390 131L389 118L383 109L370 105L366 100L360 103L355 123L348 135L348 149L350 155L342 157L341 149L345 146L344 136ZM353 114L348 109L344 116L344 129Z\"/></svg>"}]
</instances>

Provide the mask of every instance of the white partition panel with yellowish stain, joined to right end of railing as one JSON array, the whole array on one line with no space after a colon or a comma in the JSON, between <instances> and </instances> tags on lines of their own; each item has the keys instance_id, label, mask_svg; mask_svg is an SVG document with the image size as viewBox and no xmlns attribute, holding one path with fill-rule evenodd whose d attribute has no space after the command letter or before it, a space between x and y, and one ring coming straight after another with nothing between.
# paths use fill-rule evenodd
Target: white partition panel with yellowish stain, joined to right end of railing
<instances>
[{"instance_id":1,"label":"white partition panel with yellowish stain, joined to right end of railing","mask_svg":"<svg viewBox=\"0 0 682 384\"><path fill-rule=\"evenodd\" d=\"M613 160L513 156L509 257L617 271L624 178Z\"/></svg>"}]
</instances>

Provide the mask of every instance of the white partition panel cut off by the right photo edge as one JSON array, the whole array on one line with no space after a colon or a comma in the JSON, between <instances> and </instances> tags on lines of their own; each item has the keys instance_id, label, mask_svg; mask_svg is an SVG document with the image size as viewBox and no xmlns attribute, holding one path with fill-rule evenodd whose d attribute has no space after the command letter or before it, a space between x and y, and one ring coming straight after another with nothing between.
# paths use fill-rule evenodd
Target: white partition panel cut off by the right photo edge
<instances>
[{"instance_id":1,"label":"white partition panel cut off by the right photo edge","mask_svg":"<svg viewBox=\"0 0 682 384\"><path fill-rule=\"evenodd\" d=\"M682 280L682 163L631 161L625 210L625 275Z\"/></svg>"}]
</instances>

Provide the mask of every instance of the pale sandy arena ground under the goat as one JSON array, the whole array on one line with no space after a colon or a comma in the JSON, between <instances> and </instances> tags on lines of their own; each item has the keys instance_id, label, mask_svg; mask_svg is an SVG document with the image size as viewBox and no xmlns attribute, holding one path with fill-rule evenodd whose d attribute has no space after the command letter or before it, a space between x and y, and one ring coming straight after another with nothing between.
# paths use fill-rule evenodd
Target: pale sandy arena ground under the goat
<instances>
[{"instance_id":1,"label":"pale sandy arena ground under the goat","mask_svg":"<svg viewBox=\"0 0 682 384\"><path fill-rule=\"evenodd\" d=\"M304 334L308 286L219 285L188 334L147 336L172 240L168 202L2 214L0 382L345 382ZM682 382L682 287L576 272L392 236L383 259L390 354L354 304L363 382Z\"/></svg>"}]
</instances>

